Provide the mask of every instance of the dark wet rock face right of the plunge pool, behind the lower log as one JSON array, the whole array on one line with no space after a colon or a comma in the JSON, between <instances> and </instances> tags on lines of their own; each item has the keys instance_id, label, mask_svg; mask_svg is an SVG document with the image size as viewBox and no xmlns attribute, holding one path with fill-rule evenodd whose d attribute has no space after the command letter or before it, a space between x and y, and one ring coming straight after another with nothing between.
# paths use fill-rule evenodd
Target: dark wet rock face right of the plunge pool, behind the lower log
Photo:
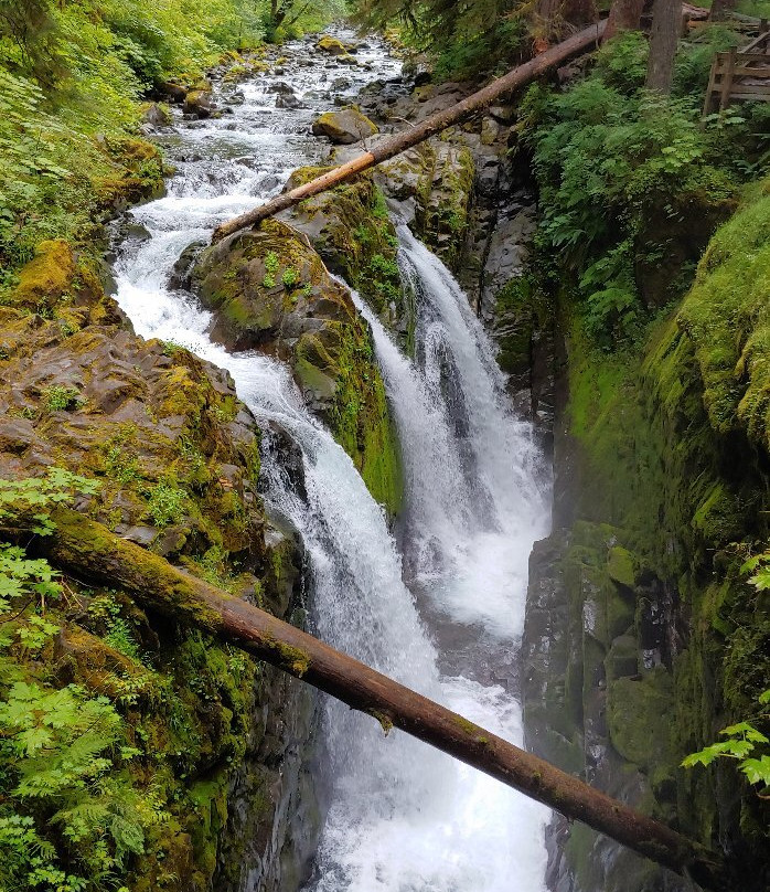
<instances>
[{"instance_id":1,"label":"dark wet rock face right of the plunge pool, behind the lower log","mask_svg":"<svg viewBox=\"0 0 770 892\"><path fill-rule=\"evenodd\" d=\"M533 550L521 649L525 743L612 797L671 821L676 789L669 772L677 762L672 678L660 662L645 661L648 631L637 605L672 605L662 588L653 594L634 555L616 541L611 527L579 522ZM669 622L675 625L671 613ZM554 892L686 889L559 816L548 851Z\"/></svg>"}]
</instances>

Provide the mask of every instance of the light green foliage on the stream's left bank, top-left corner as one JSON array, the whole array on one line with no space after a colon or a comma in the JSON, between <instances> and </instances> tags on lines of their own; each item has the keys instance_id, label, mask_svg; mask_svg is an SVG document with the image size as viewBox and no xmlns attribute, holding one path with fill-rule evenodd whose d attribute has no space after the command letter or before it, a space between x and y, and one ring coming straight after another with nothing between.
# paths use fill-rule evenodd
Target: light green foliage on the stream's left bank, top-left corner
<instances>
[{"instance_id":1,"label":"light green foliage on the stream's left bank, top-left corner","mask_svg":"<svg viewBox=\"0 0 770 892\"><path fill-rule=\"evenodd\" d=\"M116 192L160 181L126 139L137 99L254 45L258 19L248 0L0 0L0 287L38 242L88 246Z\"/></svg>"}]
</instances>

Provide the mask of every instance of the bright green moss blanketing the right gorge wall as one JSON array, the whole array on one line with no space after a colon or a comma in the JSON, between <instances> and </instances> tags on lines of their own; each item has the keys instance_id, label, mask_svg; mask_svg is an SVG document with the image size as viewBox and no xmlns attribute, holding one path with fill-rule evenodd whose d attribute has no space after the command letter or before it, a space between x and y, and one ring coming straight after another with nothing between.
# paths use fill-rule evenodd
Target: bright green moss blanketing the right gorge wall
<instances>
[{"instance_id":1,"label":"bright green moss blanketing the right gorge wall","mask_svg":"<svg viewBox=\"0 0 770 892\"><path fill-rule=\"evenodd\" d=\"M605 590L613 746L645 773L645 807L706 843L745 832L741 851L756 872L767 847L762 805L745 795L730 766L719 766L718 783L708 772L678 767L719 728L750 713L770 672L767 612L740 573L745 555L766 548L770 532L763 402L770 202L761 189L751 198L712 240L681 307L656 321L638 352L602 353L577 326L567 328L582 519L573 528L574 556L585 543L584 521L609 521L614 530L603 552L620 598ZM589 550L580 560L596 566ZM642 582L651 587L640 590ZM598 590L593 577L581 604L600 603ZM657 603L669 612L666 628L685 640L671 652L663 647L664 665L644 671L634 651L644 602L655 591L675 593L673 603ZM730 810L734 797L740 806ZM570 846L570 858L585 859Z\"/></svg>"}]
</instances>

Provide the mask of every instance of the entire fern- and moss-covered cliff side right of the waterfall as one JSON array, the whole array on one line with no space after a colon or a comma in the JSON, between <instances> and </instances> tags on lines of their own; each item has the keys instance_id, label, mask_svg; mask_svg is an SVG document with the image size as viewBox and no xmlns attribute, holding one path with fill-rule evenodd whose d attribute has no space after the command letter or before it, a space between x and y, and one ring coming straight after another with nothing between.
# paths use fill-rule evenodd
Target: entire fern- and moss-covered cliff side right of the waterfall
<instances>
[{"instance_id":1,"label":"entire fern- and moss-covered cliff side right of the waterfall","mask_svg":"<svg viewBox=\"0 0 770 892\"><path fill-rule=\"evenodd\" d=\"M526 709L550 725L555 758L728 840L753 889L768 806L751 777L680 767L757 715L770 678L767 593L744 571L768 544L767 106L698 125L709 53L735 42L703 34L680 49L670 98L641 89L644 42L628 34L569 89L536 87L525 104L538 257L559 257L528 287L558 297L569 396L557 460L576 467L547 558L565 598L552 606L570 617L566 686L544 681ZM628 572L613 569L619 549ZM601 747L625 771L597 767L588 753ZM650 882L582 831L566 851L582 888Z\"/></svg>"}]
</instances>

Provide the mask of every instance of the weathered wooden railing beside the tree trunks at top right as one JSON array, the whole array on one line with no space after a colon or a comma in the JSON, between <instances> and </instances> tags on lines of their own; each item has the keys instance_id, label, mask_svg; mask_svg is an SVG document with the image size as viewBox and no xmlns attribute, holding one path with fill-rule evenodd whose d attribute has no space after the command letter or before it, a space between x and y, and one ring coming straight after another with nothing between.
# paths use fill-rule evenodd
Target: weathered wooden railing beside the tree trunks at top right
<instances>
[{"instance_id":1,"label":"weathered wooden railing beside the tree trunks at top right","mask_svg":"<svg viewBox=\"0 0 770 892\"><path fill-rule=\"evenodd\" d=\"M734 99L770 102L770 28L763 19L759 36L742 50L717 53L703 114L720 112Z\"/></svg>"}]
</instances>

